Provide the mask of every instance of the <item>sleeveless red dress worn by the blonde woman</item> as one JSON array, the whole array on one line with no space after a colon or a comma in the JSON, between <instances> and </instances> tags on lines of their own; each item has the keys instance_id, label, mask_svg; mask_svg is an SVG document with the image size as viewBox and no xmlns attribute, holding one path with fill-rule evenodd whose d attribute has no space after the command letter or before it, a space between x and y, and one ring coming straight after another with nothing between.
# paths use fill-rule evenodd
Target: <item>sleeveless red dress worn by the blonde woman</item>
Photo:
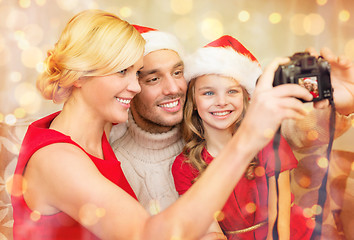
<instances>
[{"instance_id":1,"label":"sleeveless red dress worn by the blonde woman","mask_svg":"<svg viewBox=\"0 0 354 240\"><path fill-rule=\"evenodd\" d=\"M122 172L120 162L117 160L111 146L107 141L106 135L103 133L102 136L103 160L87 153L81 146L71 140L69 136L49 129L50 123L58 114L59 112L51 114L29 126L21 146L15 176L23 175L24 169L30 157L38 149L49 144L65 142L82 149L82 151L84 151L91 158L92 162L96 165L97 169L103 176L115 183L117 186L121 187L124 191L136 199L133 190ZM39 219L37 219L36 214L33 214L32 210L27 206L23 195L21 194L20 196L16 196L16 194L14 194L21 190L22 181L19 178L14 177L11 200L13 205L13 235L15 240L98 239L80 223L64 212L59 212L53 215L41 215Z\"/></svg>"}]
</instances>

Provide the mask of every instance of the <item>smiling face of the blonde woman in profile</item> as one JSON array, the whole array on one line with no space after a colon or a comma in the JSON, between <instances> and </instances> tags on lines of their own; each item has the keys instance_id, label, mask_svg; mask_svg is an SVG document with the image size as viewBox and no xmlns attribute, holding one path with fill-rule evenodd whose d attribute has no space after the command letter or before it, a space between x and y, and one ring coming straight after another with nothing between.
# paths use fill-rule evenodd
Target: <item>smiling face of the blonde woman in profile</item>
<instances>
[{"instance_id":1,"label":"smiling face of the blonde woman in profile","mask_svg":"<svg viewBox=\"0 0 354 240\"><path fill-rule=\"evenodd\" d=\"M134 65L117 73L84 78L80 87L86 105L106 121L125 122L130 101L141 90L138 73L142 67L141 57Z\"/></svg>"}]
</instances>

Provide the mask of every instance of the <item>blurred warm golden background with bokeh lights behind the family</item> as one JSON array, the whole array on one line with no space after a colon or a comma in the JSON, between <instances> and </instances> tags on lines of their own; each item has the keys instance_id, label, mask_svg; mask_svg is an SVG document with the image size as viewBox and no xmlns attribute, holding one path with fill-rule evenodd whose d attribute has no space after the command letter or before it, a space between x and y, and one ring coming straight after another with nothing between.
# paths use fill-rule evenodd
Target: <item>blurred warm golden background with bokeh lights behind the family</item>
<instances>
[{"instance_id":1,"label":"blurred warm golden background with bokeh lights behind the family","mask_svg":"<svg viewBox=\"0 0 354 240\"><path fill-rule=\"evenodd\" d=\"M0 0L0 240L12 238L6 181L13 173L23 133L30 122L61 107L42 100L35 89L42 61L67 21L90 8L172 32L188 52L229 34L262 66L276 56L292 55L309 46L317 50L327 46L354 60L353 0ZM347 185L351 181L354 186L353 126L336 140L337 161L331 163L335 164L331 204L337 213ZM298 156L299 160L308 157ZM311 215L314 189L319 186L311 177L321 174L316 158L309 159L299 166L293 188L299 193L296 201ZM329 239L343 238L343 231L354 239L354 220L343 227L337 224L338 214L325 217Z\"/></svg>"}]
</instances>

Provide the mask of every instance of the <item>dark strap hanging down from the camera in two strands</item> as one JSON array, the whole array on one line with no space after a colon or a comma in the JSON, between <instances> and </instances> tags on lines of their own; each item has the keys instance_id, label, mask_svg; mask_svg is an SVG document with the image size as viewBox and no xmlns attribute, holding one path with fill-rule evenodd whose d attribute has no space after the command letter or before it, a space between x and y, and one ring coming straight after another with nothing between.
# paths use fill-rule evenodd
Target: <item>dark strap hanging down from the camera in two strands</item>
<instances>
[{"instance_id":1,"label":"dark strap hanging down from the camera in two strands","mask_svg":"<svg viewBox=\"0 0 354 240\"><path fill-rule=\"evenodd\" d=\"M323 220L323 211L324 211L324 205L326 202L327 198L327 179L328 179L328 169L329 169L329 161L330 161L330 155L332 151L332 146L333 146L333 141L334 141L334 133L335 133L335 120L336 120L336 108L335 104L333 102L333 99L329 99L330 105L331 105L331 112L329 116L329 142L328 142L328 147L326 151L326 157L327 157L327 167L325 171L325 175L323 176L321 186L318 190L318 200L317 200L317 206L321 209L320 213L315 216L315 228L312 232L311 235L311 240L317 239L318 236L321 236L322 233L322 220ZM279 145L280 145L280 138L281 138L281 128L279 127L276 134L274 135L274 140L273 140L273 150L274 150L274 157L275 157L275 185L276 185L276 194L277 194L277 216L274 222L273 226L273 239L277 240L279 239L279 234L278 234L278 216L279 216L279 184L278 184L278 179L279 179L279 174L281 171L281 160L279 157Z\"/></svg>"}]
</instances>

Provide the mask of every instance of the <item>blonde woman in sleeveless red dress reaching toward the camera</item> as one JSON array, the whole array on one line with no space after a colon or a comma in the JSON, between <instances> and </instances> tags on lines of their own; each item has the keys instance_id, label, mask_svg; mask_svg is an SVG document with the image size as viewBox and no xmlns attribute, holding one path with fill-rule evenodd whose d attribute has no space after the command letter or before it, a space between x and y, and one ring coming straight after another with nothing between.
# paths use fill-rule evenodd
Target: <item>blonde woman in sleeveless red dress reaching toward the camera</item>
<instances>
[{"instance_id":1,"label":"blonde woman in sleeveless red dress reaching toward the camera","mask_svg":"<svg viewBox=\"0 0 354 240\"><path fill-rule=\"evenodd\" d=\"M220 157L183 197L149 216L104 133L105 125L127 120L129 102L140 91L143 46L133 26L113 14L88 10L69 21L37 81L45 98L64 105L34 122L24 138L12 191L14 239L200 238L249 161L269 141L264 130L304 116L293 96L311 98L301 87L272 88L275 69L287 61L275 60L260 79L243 126ZM289 104L265 106L264 99ZM249 142L254 144L245 147Z\"/></svg>"}]
</instances>

